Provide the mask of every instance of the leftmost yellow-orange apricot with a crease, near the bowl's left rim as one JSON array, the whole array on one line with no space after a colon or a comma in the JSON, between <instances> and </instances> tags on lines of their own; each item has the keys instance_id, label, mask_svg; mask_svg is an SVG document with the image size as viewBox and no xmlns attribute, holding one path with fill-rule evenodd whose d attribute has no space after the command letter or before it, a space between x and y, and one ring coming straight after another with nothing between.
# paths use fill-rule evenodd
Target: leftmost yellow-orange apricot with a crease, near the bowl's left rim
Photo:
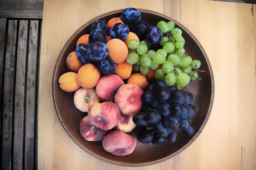
<instances>
[{"instance_id":1,"label":"leftmost yellow-orange apricot with a crease, near the bowl's left rim","mask_svg":"<svg viewBox=\"0 0 256 170\"><path fill-rule=\"evenodd\" d=\"M74 92L79 89L79 84L77 83L77 73L67 72L60 76L59 78L60 89L65 92Z\"/></svg>"}]
</instances>

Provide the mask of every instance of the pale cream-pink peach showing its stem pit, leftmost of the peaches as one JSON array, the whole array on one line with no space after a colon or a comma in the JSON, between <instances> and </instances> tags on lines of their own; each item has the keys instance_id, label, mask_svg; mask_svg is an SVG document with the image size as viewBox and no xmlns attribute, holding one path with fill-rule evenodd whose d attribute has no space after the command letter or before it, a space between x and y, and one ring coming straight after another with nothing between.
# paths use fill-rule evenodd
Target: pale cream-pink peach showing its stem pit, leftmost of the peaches
<instances>
[{"instance_id":1,"label":"pale cream-pink peach showing its stem pit, leftmost of the peaches","mask_svg":"<svg viewBox=\"0 0 256 170\"><path fill-rule=\"evenodd\" d=\"M94 89L80 88L74 94L74 104L82 112L87 112L93 103L100 103Z\"/></svg>"}]
</instances>

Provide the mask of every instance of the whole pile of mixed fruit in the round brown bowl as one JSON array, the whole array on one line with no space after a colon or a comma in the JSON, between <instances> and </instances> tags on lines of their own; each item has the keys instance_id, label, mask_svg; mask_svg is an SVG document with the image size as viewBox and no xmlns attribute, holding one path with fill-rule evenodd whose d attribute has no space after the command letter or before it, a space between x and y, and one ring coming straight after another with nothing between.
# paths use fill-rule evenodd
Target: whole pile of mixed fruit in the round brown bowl
<instances>
[{"instance_id":1,"label":"whole pile of mixed fruit in the round brown bowl","mask_svg":"<svg viewBox=\"0 0 256 170\"><path fill-rule=\"evenodd\" d=\"M180 88L198 79L201 62L184 55L184 43L174 22L150 27L135 8L107 24L93 22L67 57L70 72L59 78L62 90L75 92L76 108L88 113L80 123L83 138L102 140L104 150L121 156L136 147L127 134L136 125L142 143L174 142L179 129L193 134L193 95Z\"/></svg>"}]
</instances>

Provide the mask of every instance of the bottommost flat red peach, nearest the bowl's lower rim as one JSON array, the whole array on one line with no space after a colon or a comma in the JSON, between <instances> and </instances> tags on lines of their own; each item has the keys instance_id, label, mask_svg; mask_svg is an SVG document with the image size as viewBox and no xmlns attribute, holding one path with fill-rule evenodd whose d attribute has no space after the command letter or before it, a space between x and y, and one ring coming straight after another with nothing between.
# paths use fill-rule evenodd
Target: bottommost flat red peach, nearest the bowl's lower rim
<instances>
[{"instance_id":1,"label":"bottommost flat red peach, nearest the bowl's lower rim","mask_svg":"<svg viewBox=\"0 0 256 170\"><path fill-rule=\"evenodd\" d=\"M136 147L136 139L121 131L111 131L103 138L102 146L113 155L129 155Z\"/></svg>"}]
</instances>

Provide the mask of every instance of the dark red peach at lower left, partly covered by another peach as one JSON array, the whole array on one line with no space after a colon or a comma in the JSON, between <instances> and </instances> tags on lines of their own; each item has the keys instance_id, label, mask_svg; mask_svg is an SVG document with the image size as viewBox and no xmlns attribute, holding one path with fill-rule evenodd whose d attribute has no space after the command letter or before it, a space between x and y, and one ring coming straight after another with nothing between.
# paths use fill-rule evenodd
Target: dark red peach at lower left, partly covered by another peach
<instances>
[{"instance_id":1,"label":"dark red peach at lower left, partly covered by another peach","mask_svg":"<svg viewBox=\"0 0 256 170\"><path fill-rule=\"evenodd\" d=\"M91 124L88 115L80 122L80 134L86 141L101 141L107 132Z\"/></svg>"}]
</instances>

